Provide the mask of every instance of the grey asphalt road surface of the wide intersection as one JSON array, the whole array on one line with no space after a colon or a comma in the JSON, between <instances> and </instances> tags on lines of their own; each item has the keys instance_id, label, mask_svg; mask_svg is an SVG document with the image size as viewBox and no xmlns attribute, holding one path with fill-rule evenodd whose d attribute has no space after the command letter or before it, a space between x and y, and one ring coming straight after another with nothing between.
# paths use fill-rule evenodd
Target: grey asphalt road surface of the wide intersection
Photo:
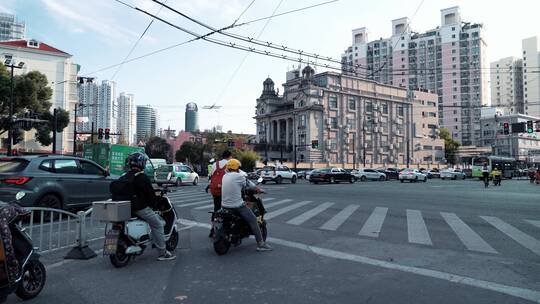
<instances>
[{"instance_id":1,"label":"grey asphalt road surface of the wide intersection","mask_svg":"<svg viewBox=\"0 0 540 304\"><path fill-rule=\"evenodd\" d=\"M177 260L147 251L115 269L55 253L29 303L540 303L540 186L527 181L268 184L274 251L244 240L226 256L207 238L204 186L170 195Z\"/></svg>"}]
</instances>

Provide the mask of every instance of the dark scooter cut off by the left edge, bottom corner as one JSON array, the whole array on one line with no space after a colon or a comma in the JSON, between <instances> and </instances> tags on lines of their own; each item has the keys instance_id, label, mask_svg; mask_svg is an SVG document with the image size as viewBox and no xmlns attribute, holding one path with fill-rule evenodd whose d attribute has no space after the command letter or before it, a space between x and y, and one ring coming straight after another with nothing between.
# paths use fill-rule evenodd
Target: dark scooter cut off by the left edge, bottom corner
<instances>
[{"instance_id":1,"label":"dark scooter cut off by the left edge, bottom corner","mask_svg":"<svg viewBox=\"0 0 540 304\"><path fill-rule=\"evenodd\" d=\"M0 207L10 208L9 205L18 203L24 196L24 192L18 192L14 201L10 203L0 202ZM3 303L8 295L13 292L23 300L35 298L45 286L46 280L45 266L39 260L40 255L37 252L37 248L33 246L32 239L26 233L25 229L17 224L27 219L30 216L30 212L14 212L13 214L14 216L10 219L8 226L11 232L15 258L18 261L20 271L15 280L9 282L5 247L0 246L0 250L3 251L0 254L3 257L3 261L0 263L4 267L0 271L6 275L5 278L2 275L2 279L0 279L0 303Z\"/></svg>"}]
</instances>

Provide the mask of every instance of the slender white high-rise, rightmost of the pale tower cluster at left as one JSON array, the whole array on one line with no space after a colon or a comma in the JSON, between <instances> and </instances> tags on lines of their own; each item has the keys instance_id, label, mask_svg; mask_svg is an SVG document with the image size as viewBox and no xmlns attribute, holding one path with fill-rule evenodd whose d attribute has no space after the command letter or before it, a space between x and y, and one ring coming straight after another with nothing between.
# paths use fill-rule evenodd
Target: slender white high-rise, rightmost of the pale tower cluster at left
<instances>
[{"instance_id":1,"label":"slender white high-rise, rightmost of the pale tower cluster at left","mask_svg":"<svg viewBox=\"0 0 540 304\"><path fill-rule=\"evenodd\" d=\"M132 145L136 142L137 112L133 94L120 93L118 96L117 131L119 142Z\"/></svg>"}]
</instances>

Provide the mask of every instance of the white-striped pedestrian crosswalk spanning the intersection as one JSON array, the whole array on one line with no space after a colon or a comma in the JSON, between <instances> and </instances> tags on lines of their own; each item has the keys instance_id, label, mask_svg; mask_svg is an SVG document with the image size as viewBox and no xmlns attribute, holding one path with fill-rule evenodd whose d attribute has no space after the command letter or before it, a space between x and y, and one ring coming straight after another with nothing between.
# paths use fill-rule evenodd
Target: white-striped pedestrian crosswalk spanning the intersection
<instances>
[{"instance_id":1,"label":"white-striped pedestrian crosswalk spanning the intersection","mask_svg":"<svg viewBox=\"0 0 540 304\"><path fill-rule=\"evenodd\" d=\"M175 202L177 208L210 211L214 206L211 196L201 190L171 193L169 197ZM275 221L276 218L279 218L277 221L283 219L284 223L292 226L309 225L313 227L313 223L318 223L315 227L317 229L338 231L348 221L353 222L351 217L356 217L356 219L358 219L360 213L365 214L367 212L369 213L369 216L360 225L354 221L360 228L357 230L357 235L360 237L379 239L381 238L381 231L383 231L385 223L390 221L387 220L387 215L391 210L389 210L388 207L383 206L366 210L365 208L361 209L362 206L360 204L337 204L335 202L314 202L308 200L298 201L290 198L274 197L263 197L263 200L265 208L267 209L265 215L266 220ZM435 213L435 215L433 213ZM434 240L432 237L436 234L434 232L437 231L430 231L429 225L426 224L426 215L424 212L422 210L406 209L404 215L406 224L403 229L406 229L407 231L407 242L433 247ZM471 226L457 214L451 212L430 212L430 215L440 219L440 222L445 224L444 227L447 228L446 230L448 230L448 233L454 234L457 237L456 240L459 240L466 250L479 253L500 254L500 252L490 245L478 231L471 228ZM479 225L482 226L483 229L488 227L487 229L493 229L494 232L499 233L500 235L498 235L497 238L504 238L505 242L513 242L512 244L518 244L529 252L540 256L540 240L538 240L538 236L540 236L540 220L520 220L518 227L521 225L526 226L526 228L518 229L515 227L515 224L507 223L498 217L481 215L476 218L475 221L484 223L483 225ZM467 221L470 221L470 219L467 219ZM487 226L485 224L487 224ZM349 224L348 229L350 228L351 225ZM437 229L440 230L440 228ZM524 232L529 230L534 231L532 236ZM480 232L484 235L486 233L485 231ZM438 235L441 235L440 232Z\"/></svg>"}]
</instances>

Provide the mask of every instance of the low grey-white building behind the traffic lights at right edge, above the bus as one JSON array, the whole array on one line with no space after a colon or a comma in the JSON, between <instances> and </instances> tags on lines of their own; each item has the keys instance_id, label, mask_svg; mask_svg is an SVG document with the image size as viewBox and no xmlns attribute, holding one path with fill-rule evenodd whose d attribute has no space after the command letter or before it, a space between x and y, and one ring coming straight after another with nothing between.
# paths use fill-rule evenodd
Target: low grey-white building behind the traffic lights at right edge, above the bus
<instances>
[{"instance_id":1,"label":"low grey-white building behind the traffic lights at right edge, above the bus","mask_svg":"<svg viewBox=\"0 0 540 304\"><path fill-rule=\"evenodd\" d=\"M540 153L540 133L512 133L505 135L503 124L525 123L529 120L540 121L540 117L524 114L493 114L490 109L483 110L482 145L491 147L491 153L500 156L514 157L518 160L533 161Z\"/></svg>"}]
</instances>

